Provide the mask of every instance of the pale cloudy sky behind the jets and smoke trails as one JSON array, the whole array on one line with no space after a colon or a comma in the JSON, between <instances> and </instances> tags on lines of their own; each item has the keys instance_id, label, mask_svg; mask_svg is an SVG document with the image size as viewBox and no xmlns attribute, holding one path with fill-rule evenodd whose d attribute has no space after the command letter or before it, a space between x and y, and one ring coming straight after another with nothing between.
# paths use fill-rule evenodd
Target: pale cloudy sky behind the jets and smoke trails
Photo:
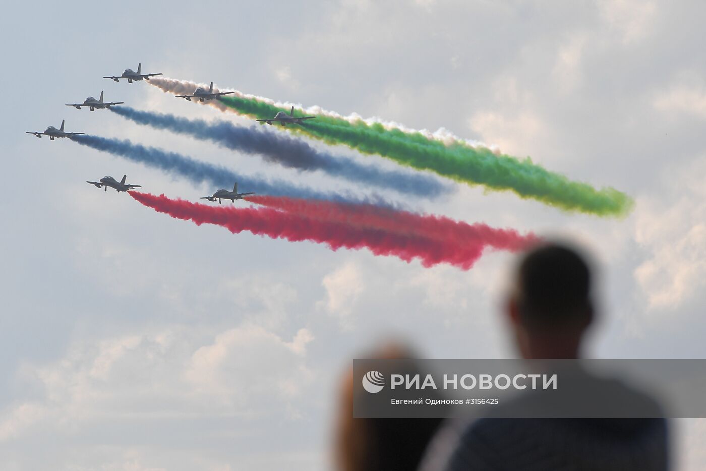
<instances>
[{"instance_id":1,"label":"pale cloudy sky behind the jets and smoke trails","mask_svg":"<svg viewBox=\"0 0 706 471\"><path fill-rule=\"evenodd\" d=\"M469 271L423 268L197 227L84 181L127 174L184 198L213 189L23 133L65 118L68 131L368 191L64 107L105 90L138 109L249 124L100 78L138 61L143 72L443 126L628 192L635 210L623 220L469 186L408 203L580 241L602 273L592 356L704 355L699 2L62 1L4 10L3 470L326 470L337 389L361 350L392 335L426 357L515 355L498 316L509 254L486 254ZM704 422L675 427L679 469L706 467Z\"/></svg>"}]
</instances>

